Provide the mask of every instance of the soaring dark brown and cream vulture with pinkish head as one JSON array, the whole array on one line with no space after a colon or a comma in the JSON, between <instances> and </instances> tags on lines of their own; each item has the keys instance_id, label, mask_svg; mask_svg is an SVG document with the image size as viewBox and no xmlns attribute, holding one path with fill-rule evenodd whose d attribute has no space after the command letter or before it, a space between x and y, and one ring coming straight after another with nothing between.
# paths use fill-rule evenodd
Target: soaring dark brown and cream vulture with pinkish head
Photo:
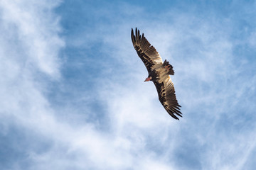
<instances>
[{"instance_id":1,"label":"soaring dark brown and cream vulture with pinkish head","mask_svg":"<svg viewBox=\"0 0 256 170\"><path fill-rule=\"evenodd\" d=\"M132 29L131 36L132 44L149 72L149 76L145 81L153 81L159 95L159 101L169 115L178 120L177 116L182 117L182 113L180 111L181 106L176 99L174 84L169 76L174 75L172 65L166 60L164 60L164 62L162 61L159 52L146 40L144 33L142 33L142 35L139 34L137 28L135 35Z\"/></svg>"}]
</instances>

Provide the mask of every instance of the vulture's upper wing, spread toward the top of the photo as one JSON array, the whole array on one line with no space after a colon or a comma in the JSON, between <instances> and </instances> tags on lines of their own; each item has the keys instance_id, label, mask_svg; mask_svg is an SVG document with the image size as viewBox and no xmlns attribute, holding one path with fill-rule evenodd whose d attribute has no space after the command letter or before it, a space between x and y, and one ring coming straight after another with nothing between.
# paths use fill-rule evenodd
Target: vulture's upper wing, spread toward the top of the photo
<instances>
[{"instance_id":1,"label":"vulture's upper wing, spread toward the top of the photo","mask_svg":"<svg viewBox=\"0 0 256 170\"><path fill-rule=\"evenodd\" d=\"M134 45L139 57L142 59L142 62L144 62L148 72L151 72L155 67L157 67L158 64L163 63L159 52L157 52L153 45L146 40L144 33L140 35L139 30L136 28L135 35L132 29L131 36L132 44Z\"/></svg>"}]
</instances>

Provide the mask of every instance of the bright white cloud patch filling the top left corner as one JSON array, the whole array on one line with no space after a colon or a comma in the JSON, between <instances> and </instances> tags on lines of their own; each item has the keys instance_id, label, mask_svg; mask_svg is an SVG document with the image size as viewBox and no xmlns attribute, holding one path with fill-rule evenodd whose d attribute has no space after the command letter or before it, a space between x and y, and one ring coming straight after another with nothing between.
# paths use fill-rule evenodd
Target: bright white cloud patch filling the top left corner
<instances>
[{"instance_id":1,"label":"bright white cloud patch filling the top left corner","mask_svg":"<svg viewBox=\"0 0 256 170\"><path fill-rule=\"evenodd\" d=\"M64 42L58 37L59 18L51 10L57 1L1 1L1 20L4 33L21 45L23 63L46 74L59 74L58 50ZM7 38L7 37L6 37ZM6 54L7 55L7 54ZM31 66L32 65L32 66Z\"/></svg>"}]
</instances>

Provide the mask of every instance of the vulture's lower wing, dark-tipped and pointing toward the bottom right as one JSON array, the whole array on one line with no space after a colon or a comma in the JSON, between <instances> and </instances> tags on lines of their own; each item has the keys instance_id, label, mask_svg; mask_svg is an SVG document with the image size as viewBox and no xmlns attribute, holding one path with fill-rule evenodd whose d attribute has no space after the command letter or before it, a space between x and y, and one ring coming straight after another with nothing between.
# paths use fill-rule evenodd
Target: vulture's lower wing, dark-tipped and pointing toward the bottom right
<instances>
[{"instance_id":1,"label":"vulture's lower wing, dark-tipped and pointing toward the bottom right","mask_svg":"<svg viewBox=\"0 0 256 170\"><path fill-rule=\"evenodd\" d=\"M155 77L159 77L158 72L154 72ZM182 117L180 111L181 106L178 104L176 99L174 84L171 81L171 78L168 76L164 81L160 79L153 80L156 90L159 94L159 101L164 106L166 111L171 115L171 117L178 119L178 116Z\"/></svg>"}]
</instances>

